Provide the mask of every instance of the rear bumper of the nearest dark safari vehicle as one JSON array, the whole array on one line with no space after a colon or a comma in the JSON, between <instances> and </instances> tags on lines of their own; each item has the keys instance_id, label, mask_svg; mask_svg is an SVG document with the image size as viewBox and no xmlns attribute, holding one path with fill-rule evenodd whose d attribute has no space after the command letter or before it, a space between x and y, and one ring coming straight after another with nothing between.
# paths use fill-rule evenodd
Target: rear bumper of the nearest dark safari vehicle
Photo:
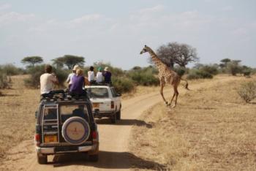
<instances>
[{"instance_id":1,"label":"rear bumper of the nearest dark safari vehicle","mask_svg":"<svg viewBox=\"0 0 256 171\"><path fill-rule=\"evenodd\" d=\"M56 147L36 147L37 154L58 154L58 153L78 153L78 152L94 152L97 151L97 145L86 145L86 146L78 146L76 150L74 149L66 149L64 151L56 151Z\"/></svg>"}]
</instances>

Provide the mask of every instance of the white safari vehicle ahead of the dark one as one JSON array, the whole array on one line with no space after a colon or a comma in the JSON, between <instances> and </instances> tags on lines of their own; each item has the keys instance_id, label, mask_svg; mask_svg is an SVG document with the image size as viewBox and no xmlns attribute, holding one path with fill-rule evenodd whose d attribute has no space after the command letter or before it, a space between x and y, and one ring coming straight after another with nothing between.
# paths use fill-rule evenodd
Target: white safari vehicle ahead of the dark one
<instances>
[{"instance_id":1,"label":"white safari vehicle ahead of the dark one","mask_svg":"<svg viewBox=\"0 0 256 171\"><path fill-rule=\"evenodd\" d=\"M113 86L85 86L89 95L92 113L96 118L108 117L112 123L121 119L121 95Z\"/></svg>"}]
</instances>

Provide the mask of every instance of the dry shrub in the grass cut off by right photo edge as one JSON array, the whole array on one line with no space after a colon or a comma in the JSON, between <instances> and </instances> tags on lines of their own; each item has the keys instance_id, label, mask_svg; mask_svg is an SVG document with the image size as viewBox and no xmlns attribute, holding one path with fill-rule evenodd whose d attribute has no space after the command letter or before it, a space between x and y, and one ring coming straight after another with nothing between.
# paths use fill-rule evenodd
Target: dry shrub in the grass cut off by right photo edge
<instances>
[{"instance_id":1,"label":"dry shrub in the grass cut off by right photo edge","mask_svg":"<svg viewBox=\"0 0 256 171\"><path fill-rule=\"evenodd\" d=\"M249 81L248 83L241 84L238 94L246 103L251 102L256 98L256 82Z\"/></svg>"}]
</instances>

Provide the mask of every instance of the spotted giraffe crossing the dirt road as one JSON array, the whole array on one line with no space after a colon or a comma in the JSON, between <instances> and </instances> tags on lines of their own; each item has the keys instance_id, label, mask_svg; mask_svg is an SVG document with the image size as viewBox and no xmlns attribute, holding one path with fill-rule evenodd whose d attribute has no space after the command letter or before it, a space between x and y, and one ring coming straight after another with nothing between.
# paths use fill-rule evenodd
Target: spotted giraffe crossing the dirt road
<instances>
[{"instance_id":1,"label":"spotted giraffe crossing the dirt road","mask_svg":"<svg viewBox=\"0 0 256 171\"><path fill-rule=\"evenodd\" d=\"M143 50L141 50L140 54L146 53L148 52L152 58L152 61L154 62L154 64L156 64L157 69L159 71L158 77L159 77L159 81L160 81L160 94L162 96L162 99L165 102L165 105L171 105L173 102L173 99L175 99L175 104L173 105L173 107L176 107L177 104L177 99L178 99L178 84L181 82L181 76L179 76L176 72L174 72L172 69L170 69L170 67L168 67L166 64L164 64L157 56L156 53L154 53L154 51L145 45L145 47L143 47ZM186 81L186 86L185 88L187 90L189 90L188 86L189 84ZM162 93L165 84L170 83L171 86L173 86L173 97L170 100L170 104L168 104L168 102L165 100L165 96Z\"/></svg>"}]
</instances>

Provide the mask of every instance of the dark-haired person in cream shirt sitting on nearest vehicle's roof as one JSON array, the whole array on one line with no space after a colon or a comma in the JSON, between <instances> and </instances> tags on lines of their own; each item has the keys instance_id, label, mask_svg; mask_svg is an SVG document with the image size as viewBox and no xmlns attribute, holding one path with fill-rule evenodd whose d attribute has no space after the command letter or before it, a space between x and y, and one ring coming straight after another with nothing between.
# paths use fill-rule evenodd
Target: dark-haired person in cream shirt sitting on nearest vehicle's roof
<instances>
[{"instance_id":1,"label":"dark-haired person in cream shirt sitting on nearest vehicle's roof","mask_svg":"<svg viewBox=\"0 0 256 171\"><path fill-rule=\"evenodd\" d=\"M40 91L42 97L53 96L53 94L64 94L63 90L53 90L54 85L59 84L59 80L52 72L53 67L45 65L45 74L40 76Z\"/></svg>"}]
</instances>

